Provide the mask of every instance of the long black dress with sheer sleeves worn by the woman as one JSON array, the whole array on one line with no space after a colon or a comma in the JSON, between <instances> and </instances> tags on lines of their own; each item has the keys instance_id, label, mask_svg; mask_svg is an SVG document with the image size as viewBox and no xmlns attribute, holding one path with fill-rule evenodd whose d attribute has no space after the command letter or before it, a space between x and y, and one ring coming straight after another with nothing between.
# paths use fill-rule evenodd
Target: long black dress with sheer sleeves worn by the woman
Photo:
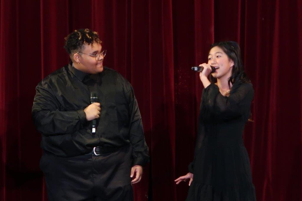
<instances>
[{"instance_id":1,"label":"long black dress with sheer sleeves worn by the woman","mask_svg":"<svg viewBox=\"0 0 302 201\"><path fill-rule=\"evenodd\" d=\"M251 83L233 84L225 97L215 84L202 91L194 174L187 201L255 201L243 129L250 114Z\"/></svg>"}]
</instances>

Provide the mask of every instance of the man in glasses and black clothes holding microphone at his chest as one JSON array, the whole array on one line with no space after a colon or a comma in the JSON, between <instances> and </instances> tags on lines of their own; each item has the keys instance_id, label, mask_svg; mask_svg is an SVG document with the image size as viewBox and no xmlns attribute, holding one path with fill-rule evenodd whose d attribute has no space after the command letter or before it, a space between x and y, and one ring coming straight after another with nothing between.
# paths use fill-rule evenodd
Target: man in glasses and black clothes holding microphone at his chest
<instances>
[{"instance_id":1,"label":"man in glasses and black clothes holding microphone at his chest","mask_svg":"<svg viewBox=\"0 0 302 201\"><path fill-rule=\"evenodd\" d=\"M133 200L149 161L133 88L103 67L96 32L75 30L64 48L71 62L37 85L32 108L49 200Z\"/></svg>"}]
</instances>

